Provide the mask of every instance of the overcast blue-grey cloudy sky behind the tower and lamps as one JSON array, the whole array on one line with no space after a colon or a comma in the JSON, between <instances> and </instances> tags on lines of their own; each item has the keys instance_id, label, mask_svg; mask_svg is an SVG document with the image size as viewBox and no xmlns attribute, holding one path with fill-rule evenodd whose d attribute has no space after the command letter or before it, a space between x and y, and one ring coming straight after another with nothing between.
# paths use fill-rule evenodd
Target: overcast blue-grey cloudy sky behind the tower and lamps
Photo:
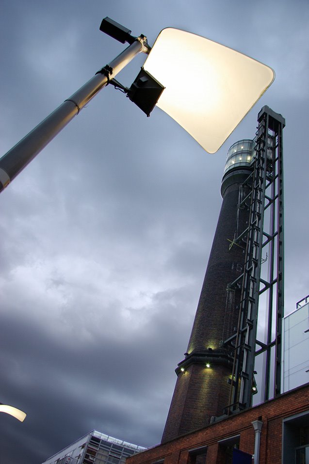
<instances>
[{"instance_id":1,"label":"overcast blue-grey cloudy sky behind the tower and lamps","mask_svg":"<svg viewBox=\"0 0 309 464\"><path fill-rule=\"evenodd\" d=\"M0 463L40 464L92 429L159 443L221 205L228 147L286 118L285 313L309 293L306 0L2 0L1 154L124 46L167 26L269 64L272 87L215 155L109 86L0 195ZM117 79L130 86L144 57ZM182 76L190 85L190 63ZM202 82L193 81L193 85Z\"/></svg>"}]
</instances>

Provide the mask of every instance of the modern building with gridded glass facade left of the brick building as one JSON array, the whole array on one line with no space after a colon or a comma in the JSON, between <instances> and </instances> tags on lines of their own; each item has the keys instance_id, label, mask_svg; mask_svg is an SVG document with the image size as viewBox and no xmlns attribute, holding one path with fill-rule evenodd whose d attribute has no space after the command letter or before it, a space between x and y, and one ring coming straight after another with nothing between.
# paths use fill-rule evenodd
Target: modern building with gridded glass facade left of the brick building
<instances>
[{"instance_id":1,"label":"modern building with gridded glass facade left of the brick building","mask_svg":"<svg viewBox=\"0 0 309 464\"><path fill-rule=\"evenodd\" d=\"M124 464L146 448L93 430L42 464Z\"/></svg>"}]
</instances>

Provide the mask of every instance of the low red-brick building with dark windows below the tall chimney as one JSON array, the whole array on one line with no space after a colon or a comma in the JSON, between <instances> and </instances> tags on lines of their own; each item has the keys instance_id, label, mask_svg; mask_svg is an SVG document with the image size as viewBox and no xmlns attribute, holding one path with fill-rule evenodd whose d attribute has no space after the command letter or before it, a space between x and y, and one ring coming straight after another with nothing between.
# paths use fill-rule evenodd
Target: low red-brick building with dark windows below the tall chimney
<instances>
[{"instance_id":1,"label":"low red-brick building with dark windows below the tall chimney","mask_svg":"<svg viewBox=\"0 0 309 464\"><path fill-rule=\"evenodd\" d=\"M252 455L255 464L309 463L309 384L149 448L126 464L251 463Z\"/></svg>"}]
</instances>

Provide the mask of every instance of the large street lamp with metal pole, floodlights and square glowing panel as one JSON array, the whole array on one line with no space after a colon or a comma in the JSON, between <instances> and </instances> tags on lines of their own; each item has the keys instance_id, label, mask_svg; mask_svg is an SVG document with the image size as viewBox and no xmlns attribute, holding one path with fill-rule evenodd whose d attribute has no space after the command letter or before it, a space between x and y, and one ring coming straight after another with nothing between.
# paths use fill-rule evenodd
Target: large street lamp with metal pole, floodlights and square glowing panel
<instances>
[{"instance_id":1,"label":"large street lamp with metal pole, floodlights and square glowing panel","mask_svg":"<svg viewBox=\"0 0 309 464\"><path fill-rule=\"evenodd\" d=\"M158 106L208 152L216 152L274 80L274 71L248 56L178 29L160 32L153 48L144 35L110 18L100 30L129 43L0 159L0 192L105 87L120 87L147 116ZM114 78L137 54L148 55L130 88Z\"/></svg>"}]
</instances>

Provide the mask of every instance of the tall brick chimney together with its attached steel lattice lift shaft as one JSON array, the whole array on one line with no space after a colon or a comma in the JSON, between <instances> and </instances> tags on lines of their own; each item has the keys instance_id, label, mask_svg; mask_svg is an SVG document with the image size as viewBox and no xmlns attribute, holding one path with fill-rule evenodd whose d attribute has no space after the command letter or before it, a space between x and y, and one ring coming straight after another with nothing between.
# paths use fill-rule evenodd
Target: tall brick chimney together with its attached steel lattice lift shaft
<instances>
[{"instance_id":1,"label":"tall brick chimney together with its attached steel lattice lift shaft","mask_svg":"<svg viewBox=\"0 0 309 464\"><path fill-rule=\"evenodd\" d=\"M258 123L254 141L239 141L228 151L222 207L188 350L176 369L163 443L251 406L254 360L261 353L262 400L269 398L272 382L271 395L280 390L285 121L263 107ZM264 261L266 277L261 272ZM264 293L266 330L261 341L258 309Z\"/></svg>"}]
</instances>

